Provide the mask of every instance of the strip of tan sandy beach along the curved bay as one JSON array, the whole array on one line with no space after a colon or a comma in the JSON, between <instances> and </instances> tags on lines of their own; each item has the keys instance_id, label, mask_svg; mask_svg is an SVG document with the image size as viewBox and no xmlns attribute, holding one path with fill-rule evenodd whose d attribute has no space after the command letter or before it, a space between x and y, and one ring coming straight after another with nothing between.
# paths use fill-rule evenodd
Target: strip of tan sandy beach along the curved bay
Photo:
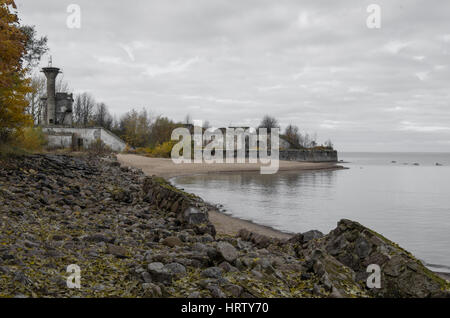
<instances>
[{"instance_id":1,"label":"strip of tan sandy beach along the curved bay","mask_svg":"<svg viewBox=\"0 0 450 318\"><path fill-rule=\"evenodd\" d=\"M180 164L176 165L171 159L148 158L139 155L119 154L117 155L122 165L139 168L149 176L156 175L166 179L196 175L196 174L214 174L231 172L259 172L260 164ZM311 171L323 169L341 169L341 166L335 163L311 163L280 161L279 171ZM258 225L249 221L231 217L229 215L212 212L209 215L211 222L216 227L219 234L236 234L240 229L245 228L249 231L263 234L266 236L285 239L291 237L291 234L274 230L270 227Z\"/></svg>"}]
</instances>

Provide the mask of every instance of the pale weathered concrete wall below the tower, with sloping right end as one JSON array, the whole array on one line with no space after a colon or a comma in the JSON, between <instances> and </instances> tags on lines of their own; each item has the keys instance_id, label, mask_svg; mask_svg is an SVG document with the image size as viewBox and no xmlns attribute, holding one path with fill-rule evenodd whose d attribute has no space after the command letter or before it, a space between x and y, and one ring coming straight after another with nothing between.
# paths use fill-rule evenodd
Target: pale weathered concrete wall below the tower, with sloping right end
<instances>
[{"instance_id":1,"label":"pale weathered concrete wall below the tower, with sloping right end","mask_svg":"<svg viewBox=\"0 0 450 318\"><path fill-rule=\"evenodd\" d=\"M49 148L70 148L72 146L72 138L70 144L65 147L61 147L61 138L56 136L65 136L67 134L76 135L78 138L83 140L83 147L88 147L91 143L100 139L110 147L113 151L123 151L126 147L125 142L123 142L119 137L115 136L113 133L107 131L101 127L92 128L75 128L75 127L63 127L63 126L50 126L42 127L42 130L48 134L49 137ZM64 138L65 139L65 138ZM66 139L65 139L66 141Z\"/></svg>"}]
</instances>

